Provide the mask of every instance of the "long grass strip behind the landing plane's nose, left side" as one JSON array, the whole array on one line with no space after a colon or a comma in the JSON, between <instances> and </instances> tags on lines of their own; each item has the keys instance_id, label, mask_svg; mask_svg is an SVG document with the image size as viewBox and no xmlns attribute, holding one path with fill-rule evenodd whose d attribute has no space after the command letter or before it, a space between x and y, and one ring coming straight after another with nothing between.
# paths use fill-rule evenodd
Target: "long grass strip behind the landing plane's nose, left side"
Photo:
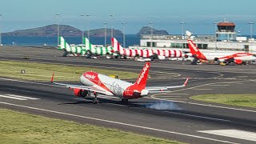
<instances>
[{"instance_id":1,"label":"long grass strip behind the landing plane's nose, left side","mask_svg":"<svg viewBox=\"0 0 256 144\"><path fill-rule=\"evenodd\" d=\"M21 70L26 70L26 74L21 74ZM63 64L0 61L1 77L26 80L50 81L54 71L54 80L56 81L78 81L83 72L90 70L100 74L118 75L121 79L138 77L138 74L136 73L118 70L103 70L95 68L94 66L66 66Z\"/></svg>"}]
</instances>

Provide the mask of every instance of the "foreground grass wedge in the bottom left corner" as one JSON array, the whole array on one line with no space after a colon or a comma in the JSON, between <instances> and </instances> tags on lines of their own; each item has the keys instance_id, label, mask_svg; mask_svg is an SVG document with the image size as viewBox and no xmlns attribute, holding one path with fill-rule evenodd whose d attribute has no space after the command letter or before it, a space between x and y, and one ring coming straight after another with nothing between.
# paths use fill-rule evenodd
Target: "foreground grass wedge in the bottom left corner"
<instances>
[{"instance_id":1,"label":"foreground grass wedge in the bottom left corner","mask_svg":"<svg viewBox=\"0 0 256 144\"><path fill-rule=\"evenodd\" d=\"M179 143L162 138L0 109L0 143Z\"/></svg>"}]
</instances>

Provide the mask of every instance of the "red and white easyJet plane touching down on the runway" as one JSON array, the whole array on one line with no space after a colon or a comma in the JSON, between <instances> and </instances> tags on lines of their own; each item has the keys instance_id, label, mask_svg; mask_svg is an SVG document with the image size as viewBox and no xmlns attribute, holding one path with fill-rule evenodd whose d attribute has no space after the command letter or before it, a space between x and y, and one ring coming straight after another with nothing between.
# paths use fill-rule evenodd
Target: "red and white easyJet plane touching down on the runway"
<instances>
[{"instance_id":1,"label":"red and white easyJet plane touching down on the runway","mask_svg":"<svg viewBox=\"0 0 256 144\"><path fill-rule=\"evenodd\" d=\"M70 85L54 82L54 74L52 75L50 82L59 86L66 86L70 88L70 90L74 91L74 95L78 97L86 98L86 96L90 96L90 93L93 93L93 103L98 103L98 94L122 98L122 102L128 102L128 99L142 98L150 94L150 92L161 93L166 92L165 90L168 89L184 87L186 86L189 79L186 78L186 82L184 82L184 84L181 86L146 87L149 70L150 62L146 62L136 82L134 83L122 81L117 78L111 78L109 76L98 74L92 71L82 74L80 77L80 82L82 85Z\"/></svg>"}]
</instances>

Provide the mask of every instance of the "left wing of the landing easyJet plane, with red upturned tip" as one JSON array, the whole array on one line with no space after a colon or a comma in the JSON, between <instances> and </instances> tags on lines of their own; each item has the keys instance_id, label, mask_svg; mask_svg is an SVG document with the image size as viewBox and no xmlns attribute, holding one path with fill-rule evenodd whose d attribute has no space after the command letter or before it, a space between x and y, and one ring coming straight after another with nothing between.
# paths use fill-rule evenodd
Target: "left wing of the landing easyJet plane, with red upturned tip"
<instances>
[{"instance_id":1,"label":"left wing of the landing easyJet plane, with red upturned tip","mask_svg":"<svg viewBox=\"0 0 256 144\"><path fill-rule=\"evenodd\" d=\"M65 86L69 89L89 90L89 91L94 91L94 92L97 92L100 94L106 94L105 90L100 90L95 86L70 85L70 84L66 84L66 83L54 82L54 74L52 75L50 82L52 82L53 84L58 85L58 86Z\"/></svg>"}]
</instances>

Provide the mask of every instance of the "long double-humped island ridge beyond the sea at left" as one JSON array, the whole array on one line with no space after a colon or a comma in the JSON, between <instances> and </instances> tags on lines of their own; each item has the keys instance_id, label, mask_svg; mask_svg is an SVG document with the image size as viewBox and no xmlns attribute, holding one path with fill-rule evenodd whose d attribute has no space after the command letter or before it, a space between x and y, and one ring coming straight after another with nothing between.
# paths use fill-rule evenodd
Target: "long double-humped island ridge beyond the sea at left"
<instances>
[{"instance_id":1,"label":"long double-humped island ridge beyond the sea at left","mask_svg":"<svg viewBox=\"0 0 256 144\"><path fill-rule=\"evenodd\" d=\"M78 30L73 26L59 25L60 35L63 37L78 37L81 36L82 31ZM106 29L107 36L111 35L111 30ZM26 30L15 30L13 32L3 33L2 36L19 36L19 37L56 37L58 33L57 25L48 25L38 28L26 29ZM87 31L85 31L85 36ZM122 37L120 30L113 30L114 37ZM105 29L90 30L90 36L104 37Z\"/></svg>"}]
</instances>

